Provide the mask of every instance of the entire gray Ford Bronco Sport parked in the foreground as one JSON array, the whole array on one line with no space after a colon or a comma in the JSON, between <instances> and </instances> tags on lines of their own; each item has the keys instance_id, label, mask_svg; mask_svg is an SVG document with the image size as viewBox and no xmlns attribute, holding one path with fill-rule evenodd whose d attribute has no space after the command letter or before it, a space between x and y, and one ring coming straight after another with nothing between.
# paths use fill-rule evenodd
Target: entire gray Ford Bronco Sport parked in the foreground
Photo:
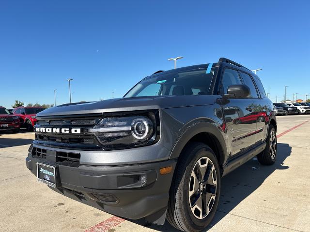
<instances>
[{"instance_id":1,"label":"entire gray Ford Bronco Sport parked in the foreground","mask_svg":"<svg viewBox=\"0 0 310 232\"><path fill-rule=\"evenodd\" d=\"M227 58L158 71L120 99L37 114L27 168L54 191L113 215L203 230L221 177L277 156L273 104L259 77Z\"/></svg>"}]
</instances>

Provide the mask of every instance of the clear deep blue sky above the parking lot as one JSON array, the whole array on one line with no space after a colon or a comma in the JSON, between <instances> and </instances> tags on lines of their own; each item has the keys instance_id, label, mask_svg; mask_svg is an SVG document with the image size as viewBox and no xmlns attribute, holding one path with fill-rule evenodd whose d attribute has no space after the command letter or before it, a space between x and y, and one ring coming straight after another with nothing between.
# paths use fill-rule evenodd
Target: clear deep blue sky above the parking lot
<instances>
[{"instance_id":1,"label":"clear deep blue sky above the parking lot","mask_svg":"<svg viewBox=\"0 0 310 232\"><path fill-rule=\"evenodd\" d=\"M122 97L141 78L235 60L270 98L310 95L310 1L0 1L0 105Z\"/></svg>"}]
</instances>

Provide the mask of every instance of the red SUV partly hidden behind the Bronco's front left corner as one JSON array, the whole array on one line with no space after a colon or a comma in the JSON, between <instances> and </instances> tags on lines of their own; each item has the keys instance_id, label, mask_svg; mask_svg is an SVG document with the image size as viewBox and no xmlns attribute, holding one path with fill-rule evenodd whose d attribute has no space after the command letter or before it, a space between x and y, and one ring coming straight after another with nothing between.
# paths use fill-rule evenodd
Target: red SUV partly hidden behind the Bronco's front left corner
<instances>
[{"instance_id":1,"label":"red SUV partly hidden behind the Bronco's front left corner","mask_svg":"<svg viewBox=\"0 0 310 232\"><path fill-rule=\"evenodd\" d=\"M37 123L36 114L45 110L42 107L16 107L13 114L19 117L21 127L26 127L27 131L32 131Z\"/></svg>"}]
</instances>

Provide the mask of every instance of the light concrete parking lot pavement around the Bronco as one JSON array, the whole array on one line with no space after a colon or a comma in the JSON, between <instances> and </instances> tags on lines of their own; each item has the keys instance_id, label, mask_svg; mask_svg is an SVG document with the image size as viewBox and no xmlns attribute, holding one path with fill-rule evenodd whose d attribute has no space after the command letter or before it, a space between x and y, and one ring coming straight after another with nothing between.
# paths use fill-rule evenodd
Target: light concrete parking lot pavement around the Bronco
<instances>
[{"instance_id":1,"label":"light concrete parking lot pavement around the Bronco","mask_svg":"<svg viewBox=\"0 0 310 232\"><path fill-rule=\"evenodd\" d=\"M210 232L310 232L310 116L278 116L278 155L256 159L222 179ZM25 166L34 133L0 134L0 231L176 232L113 217L55 193Z\"/></svg>"}]
</instances>

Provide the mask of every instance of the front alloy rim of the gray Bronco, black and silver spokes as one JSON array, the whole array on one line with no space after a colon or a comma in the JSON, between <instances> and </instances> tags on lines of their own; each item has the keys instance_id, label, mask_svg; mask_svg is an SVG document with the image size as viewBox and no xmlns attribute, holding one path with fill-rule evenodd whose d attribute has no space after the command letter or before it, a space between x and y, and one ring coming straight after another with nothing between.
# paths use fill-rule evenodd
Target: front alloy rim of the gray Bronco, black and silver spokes
<instances>
[{"instance_id":1,"label":"front alloy rim of the gray Bronco, black and silver spokes","mask_svg":"<svg viewBox=\"0 0 310 232\"><path fill-rule=\"evenodd\" d=\"M216 193L215 166L209 158L202 157L194 165L188 188L189 205L195 217L207 217L215 203Z\"/></svg>"}]
</instances>

